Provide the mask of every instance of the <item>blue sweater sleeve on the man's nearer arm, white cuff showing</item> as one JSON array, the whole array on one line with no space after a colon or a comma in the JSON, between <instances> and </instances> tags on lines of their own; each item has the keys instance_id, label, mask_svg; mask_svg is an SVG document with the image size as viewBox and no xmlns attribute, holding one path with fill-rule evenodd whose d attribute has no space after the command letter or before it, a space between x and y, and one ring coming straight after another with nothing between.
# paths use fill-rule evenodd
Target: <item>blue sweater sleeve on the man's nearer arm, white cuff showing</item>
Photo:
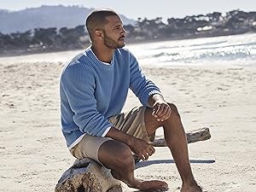
<instances>
[{"instance_id":1,"label":"blue sweater sleeve on the man's nearer arm, white cuff showing","mask_svg":"<svg viewBox=\"0 0 256 192\"><path fill-rule=\"evenodd\" d=\"M61 75L61 86L79 130L91 136L104 137L112 124L96 109L96 84L92 71L85 70L80 65L69 66ZM65 114L62 116L65 118Z\"/></svg>"}]
</instances>

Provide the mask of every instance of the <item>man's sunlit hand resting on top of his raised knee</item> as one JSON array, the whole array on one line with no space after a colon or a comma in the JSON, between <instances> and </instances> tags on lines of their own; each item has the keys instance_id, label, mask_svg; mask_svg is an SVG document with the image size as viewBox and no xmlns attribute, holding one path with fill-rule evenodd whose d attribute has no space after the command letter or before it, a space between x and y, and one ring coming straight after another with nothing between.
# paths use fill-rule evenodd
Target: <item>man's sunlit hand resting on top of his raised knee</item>
<instances>
[{"instance_id":1,"label":"man's sunlit hand resting on top of his raised knee","mask_svg":"<svg viewBox=\"0 0 256 192\"><path fill-rule=\"evenodd\" d=\"M154 95L149 97L150 102L153 103L153 112L152 115L158 121L164 121L168 119L172 113L172 109L168 103L164 100L163 96Z\"/></svg>"}]
</instances>

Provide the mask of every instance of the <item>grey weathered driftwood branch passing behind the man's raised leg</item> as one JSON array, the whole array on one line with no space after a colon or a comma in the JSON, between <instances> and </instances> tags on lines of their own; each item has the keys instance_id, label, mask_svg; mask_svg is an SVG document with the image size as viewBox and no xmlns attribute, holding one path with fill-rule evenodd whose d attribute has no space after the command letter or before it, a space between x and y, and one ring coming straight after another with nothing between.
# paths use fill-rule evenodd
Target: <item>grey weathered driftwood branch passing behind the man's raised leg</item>
<instances>
[{"instance_id":1,"label":"grey weathered driftwood branch passing behind the man's raised leg","mask_svg":"<svg viewBox=\"0 0 256 192\"><path fill-rule=\"evenodd\" d=\"M205 141L211 138L211 133L209 128L204 127L198 130L187 131L186 132L188 143L195 143L200 141ZM166 147L165 138L155 138L154 142L152 142L154 147Z\"/></svg>"}]
</instances>

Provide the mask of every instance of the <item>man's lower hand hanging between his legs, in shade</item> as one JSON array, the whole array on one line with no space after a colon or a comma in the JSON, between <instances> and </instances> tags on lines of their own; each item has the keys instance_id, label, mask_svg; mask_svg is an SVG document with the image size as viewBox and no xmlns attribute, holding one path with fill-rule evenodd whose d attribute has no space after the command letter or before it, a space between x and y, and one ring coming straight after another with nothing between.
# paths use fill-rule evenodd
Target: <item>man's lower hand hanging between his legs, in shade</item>
<instances>
[{"instance_id":1,"label":"man's lower hand hanging between his legs, in shade","mask_svg":"<svg viewBox=\"0 0 256 192\"><path fill-rule=\"evenodd\" d=\"M132 152L137 154L137 156L142 160L148 160L148 156L154 154L155 151L151 144L136 137L133 137L131 143L128 143L128 146L131 148Z\"/></svg>"}]
</instances>

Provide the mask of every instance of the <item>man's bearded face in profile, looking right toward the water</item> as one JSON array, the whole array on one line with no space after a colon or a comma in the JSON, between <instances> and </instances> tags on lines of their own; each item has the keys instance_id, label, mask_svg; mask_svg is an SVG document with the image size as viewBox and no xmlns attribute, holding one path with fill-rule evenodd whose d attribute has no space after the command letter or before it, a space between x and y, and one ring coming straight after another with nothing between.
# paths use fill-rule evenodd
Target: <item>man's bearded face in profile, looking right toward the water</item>
<instances>
[{"instance_id":1,"label":"man's bearded face in profile, looking right toward the water","mask_svg":"<svg viewBox=\"0 0 256 192\"><path fill-rule=\"evenodd\" d=\"M105 25L104 44L109 49L117 49L125 46L125 29L119 16L108 16L108 24Z\"/></svg>"}]
</instances>

